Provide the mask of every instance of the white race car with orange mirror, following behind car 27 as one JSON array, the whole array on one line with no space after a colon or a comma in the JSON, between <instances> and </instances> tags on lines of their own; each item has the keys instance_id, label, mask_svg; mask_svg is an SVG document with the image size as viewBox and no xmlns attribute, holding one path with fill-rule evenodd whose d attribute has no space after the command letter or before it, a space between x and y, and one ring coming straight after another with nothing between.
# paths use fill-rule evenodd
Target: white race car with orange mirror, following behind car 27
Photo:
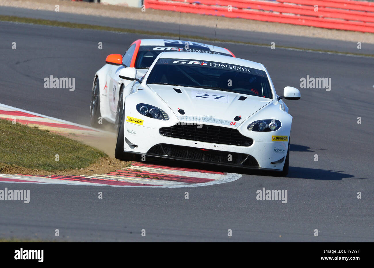
<instances>
[{"instance_id":1,"label":"white race car with orange mirror, following behind car 27","mask_svg":"<svg viewBox=\"0 0 374 268\"><path fill-rule=\"evenodd\" d=\"M90 106L90 121L93 127L99 127L102 119L118 127L123 98L129 94L123 90L129 81L119 77L120 71L125 67L134 67L137 69L137 77L142 77L154 59L165 51L200 52L235 57L226 48L197 42L165 39L136 40L125 54L110 54L106 59L107 64L95 74Z\"/></svg>"}]
</instances>

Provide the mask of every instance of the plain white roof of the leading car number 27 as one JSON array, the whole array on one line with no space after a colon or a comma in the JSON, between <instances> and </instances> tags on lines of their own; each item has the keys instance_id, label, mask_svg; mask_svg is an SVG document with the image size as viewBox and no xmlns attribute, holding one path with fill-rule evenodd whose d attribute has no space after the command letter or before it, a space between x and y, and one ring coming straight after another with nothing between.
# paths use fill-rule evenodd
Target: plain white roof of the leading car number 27
<instances>
[{"instance_id":1,"label":"plain white roof of the leading car number 27","mask_svg":"<svg viewBox=\"0 0 374 268\"><path fill-rule=\"evenodd\" d=\"M224 55L217 54L205 54L205 53L194 53L194 52L162 52L160 58L169 59L182 59L182 60L195 60L195 61L214 61L218 63L232 64L238 66L245 66L249 68L255 68L258 70L266 71L261 63L254 61L248 61L240 58L233 58Z\"/></svg>"}]
</instances>

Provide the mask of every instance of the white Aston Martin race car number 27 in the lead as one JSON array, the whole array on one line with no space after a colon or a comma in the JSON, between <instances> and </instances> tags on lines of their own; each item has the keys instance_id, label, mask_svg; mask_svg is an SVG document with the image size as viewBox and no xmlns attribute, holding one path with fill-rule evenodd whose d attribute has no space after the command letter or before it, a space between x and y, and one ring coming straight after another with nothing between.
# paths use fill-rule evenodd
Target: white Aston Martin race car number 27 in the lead
<instances>
[{"instance_id":1,"label":"white Aston Martin race car number 27 in the lead","mask_svg":"<svg viewBox=\"0 0 374 268\"><path fill-rule=\"evenodd\" d=\"M132 67L115 156L169 158L271 170L286 176L292 116L266 68L248 60L191 52L161 53L138 79Z\"/></svg>"}]
</instances>

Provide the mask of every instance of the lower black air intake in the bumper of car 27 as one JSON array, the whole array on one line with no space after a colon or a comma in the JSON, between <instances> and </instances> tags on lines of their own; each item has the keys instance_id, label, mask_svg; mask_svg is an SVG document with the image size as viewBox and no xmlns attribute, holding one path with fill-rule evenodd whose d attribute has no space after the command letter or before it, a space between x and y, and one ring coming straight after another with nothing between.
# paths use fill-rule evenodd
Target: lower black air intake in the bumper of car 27
<instances>
[{"instance_id":1,"label":"lower black air intake in the bumper of car 27","mask_svg":"<svg viewBox=\"0 0 374 268\"><path fill-rule=\"evenodd\" d=\"M222 164L242 164L248 159L244 153L225 152L218 150L208 150L188 146L179 146L171 144L157 144L149 151L150 155L166 155L185 160L195 160L199 162L212 162Z\"/></svg>"}]
</instances>

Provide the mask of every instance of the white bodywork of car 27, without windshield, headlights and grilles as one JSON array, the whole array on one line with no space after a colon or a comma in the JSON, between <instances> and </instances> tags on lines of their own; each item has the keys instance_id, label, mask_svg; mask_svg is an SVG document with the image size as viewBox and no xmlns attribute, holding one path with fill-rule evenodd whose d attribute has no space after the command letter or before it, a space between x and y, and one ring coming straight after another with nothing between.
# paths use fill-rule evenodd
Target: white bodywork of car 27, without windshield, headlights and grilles
<instances>
[{"instance_id":1,"label":"white bodywork of car 27, without windshield, headlights and grilles","mask_svg":"<svg viewBox=\"0 0 374 268\"><path fill-rule=\"evenodd\" d=\"M181 53L183 53L183 55L181 55ZM126 91L129 92L129 95L125 98L125 137L118 138L127 138L128 141L132 144L136 144L137 147L124 142L123 150L125 152L145 154L156 144L175 144L195 148L245 153L253 156L257 160L259 168L282 170L285 161L277 164L270 163L279 161L283 156L286 158L292 116L288 114L288 107L283 103L283 101L278 101L277 97L279 96L276 94L269 73L262 64L222 55L199 54L197 57L195 53L168 52L162 53L158 56L150 67L150 71L159 58L183 58L200 61L215 61L263 70L266 72L269 79L273 99L234 92L217 91L214 89L188 88L183 86L177 86L177 88L181 90L181 93L177 93L173 90L176 86L147 85L146 81L150 74L150 72L148 72L145 74L142 83L128 81L129 86L126 87ZM193 97L193 92L196 90L206 92L206 94L225 95L227 100L214 101L201 98L197 99ZM238 98L243 95L247 98L243 101L238 100ZM162 121L143 116L136 109L136 106L139 103L150 104L162 109L169 115L170 119ZM185 110L186 114L180 115L180 113L177 112L178 109ZM140 119L143 121L142 125L126 122L128 116ZM235 122L236 124L231 124L231 122L234 121L233 118L235 116L241 116L242 119ZM212 120L212 118L217 120ZM264 119L276 119L281 121L281 128L269 132L255 132L247 129L248 125L252 122ZM171 127L180 122L234 128L242 135L250 137L254 141L251 146L244 147L171 138L165 137L159 133L160 128ZM272 136L287 136L287 141L273 141Z\"/></svg>"}]
</instances>

